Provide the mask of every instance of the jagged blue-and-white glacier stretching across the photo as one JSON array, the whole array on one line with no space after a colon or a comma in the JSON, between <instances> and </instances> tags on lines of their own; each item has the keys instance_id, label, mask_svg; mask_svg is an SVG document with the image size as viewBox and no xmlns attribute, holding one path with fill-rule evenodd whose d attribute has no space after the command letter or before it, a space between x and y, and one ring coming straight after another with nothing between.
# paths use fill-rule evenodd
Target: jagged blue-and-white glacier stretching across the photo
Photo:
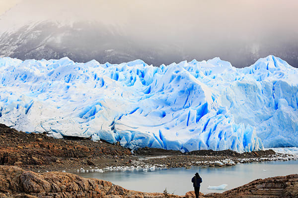
<instances>
[{"instance_id":1,"label":"jagged blue-and-white glacier stretching across the photo","mask_svg":"<svg viewBox=\"0 0 298 198\"><path fill-rule=\"evenodd\" d=\"M3 57L0 123L131 149L298 147L298 69L273 55L244 68Z\"/></svg>"}]
</instances>

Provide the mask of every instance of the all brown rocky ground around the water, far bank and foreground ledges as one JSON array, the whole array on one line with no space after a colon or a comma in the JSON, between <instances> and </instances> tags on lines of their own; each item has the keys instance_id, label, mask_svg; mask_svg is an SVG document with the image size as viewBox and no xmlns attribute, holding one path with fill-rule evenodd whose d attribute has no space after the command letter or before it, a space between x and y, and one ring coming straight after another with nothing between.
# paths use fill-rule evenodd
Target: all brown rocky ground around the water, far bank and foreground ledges
<instances>
[{"instance_id":1,"label":"all brown rocky ground around the water, far bank and foreground ledges","mask_svg":"<svg viewBox=\"0 0 298 198\"><path fill-rule=\"evenodd\" d=\"M297 155L276 153L273 150L245 153L232 150L197 150L181 153L176 150L141 148L132 152L119 144L93 142L75 137L68 137L67 140L54 139L48 137L46 133L27 134L0 124L0 197L163 198L164 194L161 193L129 191L107 181L85 179L67 172L135 169L154 171L172 167L223 167L255 161L297 159ZM291 180L289 184L283 183L281 186L279 181L288 180ZM269 197L276 195L297 196L298 175L273 180L270 178L255 180L254 182L226 191L229 193L201 194L201 197L224 198L230 195L232 197L253 197L249 195L268 197L268 192L263 191L265 187L267 188L266 185L269 185L270 188L277 188L274 190L275 194L270 194ZM281 189L283 190L281 191ZM169 195L169 197L191 198L192 192L182 197L175 195Z\"/></svg>"}]
</instances>

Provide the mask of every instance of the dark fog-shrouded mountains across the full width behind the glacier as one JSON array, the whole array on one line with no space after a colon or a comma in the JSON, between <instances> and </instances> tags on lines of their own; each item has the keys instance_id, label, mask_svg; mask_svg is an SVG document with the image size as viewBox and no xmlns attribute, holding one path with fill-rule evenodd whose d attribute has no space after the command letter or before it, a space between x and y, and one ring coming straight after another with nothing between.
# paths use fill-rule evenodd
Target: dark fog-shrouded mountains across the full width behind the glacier
<instances>
[{"instance_id":1,"label":"dark fog-shrouded mountains across the full width behind the glacier","mask_svg":"<svg viewBox=\"0 0 298 198\"><path fill-rule=\"evenodd\" d=\"M268 38L255 44L253 41L210 42L212 38L205 41L195 37L192 42L188 37L195 36L194 33L185 33L169 41L165 35L149 37L142 32L138 37L126 26L96 21L27 22L0 33L0 57L25 60L68 56L76 62L95 59L100 63L113 64L142 59L148 64L159 66L181 60L220 56L236 67L245 67L253 64L260 56L275 54L298 67L298 47L293 40L280 44ZM149 33L153 34L154 31L149 30Z\"/></svg>"}]
</instances>

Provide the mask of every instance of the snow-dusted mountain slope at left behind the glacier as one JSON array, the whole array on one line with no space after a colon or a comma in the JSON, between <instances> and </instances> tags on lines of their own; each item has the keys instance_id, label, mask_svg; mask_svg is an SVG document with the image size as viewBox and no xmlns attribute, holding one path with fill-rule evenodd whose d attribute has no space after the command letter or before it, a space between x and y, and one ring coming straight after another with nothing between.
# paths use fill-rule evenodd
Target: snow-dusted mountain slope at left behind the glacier
<instances>
[{"instance_id":1,"label":"snow-dusted mountain slope at left behind the glacier","mask_svg":"<svg viewBox=\"0 0 298 198\"><path fill-rule=\"evenodd\" d=\"M159 66L185 59L178 49L175 45L140 44L120 27L98 22L42 21L0 35L0 57L23 60L68 56L77 62L96 59L101 63L121 63L141 58Z\"/></svg>"}]
</instances>

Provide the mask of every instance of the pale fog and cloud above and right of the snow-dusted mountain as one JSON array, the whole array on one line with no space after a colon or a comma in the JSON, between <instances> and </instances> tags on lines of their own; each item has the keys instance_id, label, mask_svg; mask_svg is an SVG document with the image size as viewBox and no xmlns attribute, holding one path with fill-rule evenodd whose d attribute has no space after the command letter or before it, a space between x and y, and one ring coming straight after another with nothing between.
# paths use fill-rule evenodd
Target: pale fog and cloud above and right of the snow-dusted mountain
<instances>
[{"instance_id":1,"label":"pale fog and cloud above and right of the snow-dusted mountain","mask_svg":"<svg viewBox=\"0 0 298 198\"><path fill-rule=\"evenodd\" d=\"M144 53L176 50L152 64L219 56L234 66L244 67L273 54L298 66L297 0L2 0L0 3L1 32L39 21L58 21L61 25L91 21L113 27L117 33L111 34L134 41Z\"/></svg>"}]
</instances>

